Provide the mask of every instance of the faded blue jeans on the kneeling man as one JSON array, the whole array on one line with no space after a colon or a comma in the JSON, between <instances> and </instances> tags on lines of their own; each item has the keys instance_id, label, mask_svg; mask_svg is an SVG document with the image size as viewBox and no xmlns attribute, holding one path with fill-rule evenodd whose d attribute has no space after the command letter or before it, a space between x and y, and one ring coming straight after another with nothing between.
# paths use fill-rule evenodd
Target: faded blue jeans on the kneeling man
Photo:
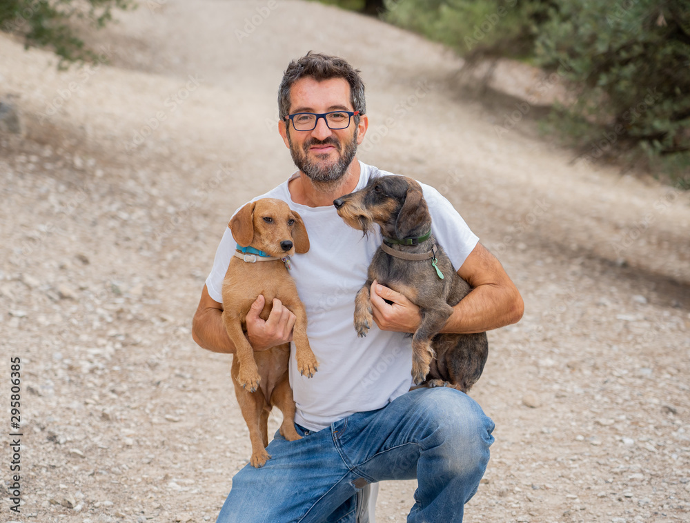
<instances>
[{"instance_id":1,"label":"faded blue jeans on the kneeling man","mask_svg":"<svg viewBox=\"0 0 690 523\"><path fill-rule=\"evenodd\" d=\"M453 388L420 388L322 431L279 433L262 468L247 465L217 523L354 523L367 483L417 478L408 522L461 522L489 462L493 422Z\"/></svg>"}]
</instances>

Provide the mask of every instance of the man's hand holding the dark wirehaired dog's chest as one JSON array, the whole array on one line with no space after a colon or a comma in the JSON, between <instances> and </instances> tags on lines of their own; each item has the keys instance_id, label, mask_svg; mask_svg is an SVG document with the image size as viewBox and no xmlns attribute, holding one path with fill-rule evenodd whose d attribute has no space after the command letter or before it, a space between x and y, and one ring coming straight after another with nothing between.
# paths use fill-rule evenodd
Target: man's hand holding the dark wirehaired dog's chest
<instances>
[{"instance_id":1,"label":"man's hand holding the dark wirehaired dog's chest","mask_svg":"<svg viewBox=\"0 0 690 523\"><path fill-rule=\"evenodd\" d=\"M388 304L386 300L393 303ZM371 310L374 321L381 330L414 333L422 321L419 307L376 280L371 284Z\"/></svg>"}]
</instances>

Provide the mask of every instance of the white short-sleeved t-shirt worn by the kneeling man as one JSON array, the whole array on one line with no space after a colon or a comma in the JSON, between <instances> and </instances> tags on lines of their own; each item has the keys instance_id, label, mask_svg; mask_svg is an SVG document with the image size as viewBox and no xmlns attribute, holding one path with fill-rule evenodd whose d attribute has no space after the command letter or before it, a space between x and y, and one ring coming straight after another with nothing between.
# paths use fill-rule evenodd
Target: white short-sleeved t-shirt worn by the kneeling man
<instances>
[{"instance_id":1,"label":"white short-sleeved t-shirt worn by the kneeling man","mask_svg":"<svg viewBox=\"0 0 690 523\"><path fill-rule=\"evenodd\" d=\"M359 165L357 190L366 186L371 177L391 174L362 162ZM289 373L297 404L295 422L319 431L355 412L382 408L409 390L411 338L379 330L376 325L366 337L359 338L353 326L355 295L366 282L367 267L382 242L380 231L363 236L361 230L345 224L334 206L295 204L290 198L288 181L251 201L286 201L302 217L309 235L311 248L292 258L290 273L306 308L307 335L319 371L312 378L299 375L293 344ZM431 186L421 185L431 212L433 234L457 270L478 238L448 200ZM235 247L227 228L206 279L208 294L220 303L223 280Z\"/></svg>"}]
</instances>

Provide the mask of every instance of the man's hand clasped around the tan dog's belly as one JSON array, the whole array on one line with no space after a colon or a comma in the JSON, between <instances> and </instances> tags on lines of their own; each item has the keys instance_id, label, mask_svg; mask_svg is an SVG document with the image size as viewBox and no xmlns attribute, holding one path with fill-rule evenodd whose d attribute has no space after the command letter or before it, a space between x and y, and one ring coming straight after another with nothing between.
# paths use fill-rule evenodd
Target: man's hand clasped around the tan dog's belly
<instances>
[{"instance_id":1,"label":"man's hand clasped around the tan dog's belly","mask_svg":"<svg viewBox=\"0 0 690 523\"><path fill-rule=\"evenodd\" d=\"M270 315L264 321L259 314L265 303L266 298L259 295L246 317L247 337L255 351L266 351L268 348L291 342L293 339L295 315L279 299L274 298Z\"/></svg>"}]
</instances>

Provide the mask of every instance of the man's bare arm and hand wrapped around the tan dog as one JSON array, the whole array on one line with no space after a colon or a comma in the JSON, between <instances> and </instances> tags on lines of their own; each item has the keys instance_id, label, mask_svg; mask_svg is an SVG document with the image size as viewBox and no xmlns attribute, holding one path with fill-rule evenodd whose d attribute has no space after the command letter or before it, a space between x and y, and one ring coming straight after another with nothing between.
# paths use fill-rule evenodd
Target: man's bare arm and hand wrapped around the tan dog
<instances>
[{"instance_id":1,"label":"man's bare arm and hand wrapped around the tan dog","mask_svg":"<svg viewBox=\"0 0 690 523\"><path fill-rule=\"evenodd\" d=\"M247 337L255 351L284 344L293 339L295 315L284 307L279 299L273 300L273 308L264 322L259 314L264 308L264 297L259 295L247 313ZM235 354L235 344L228 337L223 324L223 304L208 295L204 285L201 299L192 322L192 337L197 345L215 353Z\"/></svg>"}]
</instances>

